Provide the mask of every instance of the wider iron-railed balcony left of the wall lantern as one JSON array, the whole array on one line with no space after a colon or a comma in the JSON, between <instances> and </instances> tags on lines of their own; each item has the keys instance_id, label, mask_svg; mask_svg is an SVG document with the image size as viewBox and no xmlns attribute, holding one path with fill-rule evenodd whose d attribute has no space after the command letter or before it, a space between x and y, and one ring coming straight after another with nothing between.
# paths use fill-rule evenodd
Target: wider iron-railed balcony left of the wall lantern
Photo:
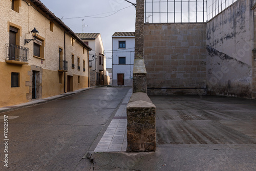
<instances>
[{"instance_id":1,"label":"wider iron-railed balcony left of the wall lantern","mask_svg":"<svg viewBox=\"0 0 256 171\"><path fill-rule=\"evenodd\" d=\"M28 65L29 63L29 48L18 45L6 44L6 62L17 65Z\"/></svg>"}]
</instances>

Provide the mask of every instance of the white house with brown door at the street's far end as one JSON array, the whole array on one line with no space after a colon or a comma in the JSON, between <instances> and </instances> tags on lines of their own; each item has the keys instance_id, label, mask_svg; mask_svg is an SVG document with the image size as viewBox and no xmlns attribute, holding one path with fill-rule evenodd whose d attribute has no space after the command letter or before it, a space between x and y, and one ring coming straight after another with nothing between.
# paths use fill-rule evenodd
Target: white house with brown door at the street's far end
<instances>
[{"instance_id":1,"label":"white house with brown door at the street's far end","mask_svg":"<svg viewBox=\"0 0 256 171\"><path fill-rule=\"evenodd\" d=\"M112 36L112 85L133 86L135 32L115 32Z\"/></svg>"}]
</instances>

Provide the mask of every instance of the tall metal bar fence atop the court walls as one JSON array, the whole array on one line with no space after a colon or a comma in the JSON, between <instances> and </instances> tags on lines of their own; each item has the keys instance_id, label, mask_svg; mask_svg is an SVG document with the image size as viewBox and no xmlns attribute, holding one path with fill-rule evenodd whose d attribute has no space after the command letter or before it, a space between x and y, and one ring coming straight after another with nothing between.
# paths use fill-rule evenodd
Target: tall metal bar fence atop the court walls
<instances>
[{"instance_id":1,"label":"tall metal bar fence atop the court walls","mask_svg":"<svg viewBox=\"0 0 256 171\"><path fill-rule=\"evenodd\" d=\"M145 0L145 23L202 23L237 0Z\"/></svg>"}]
</instances>

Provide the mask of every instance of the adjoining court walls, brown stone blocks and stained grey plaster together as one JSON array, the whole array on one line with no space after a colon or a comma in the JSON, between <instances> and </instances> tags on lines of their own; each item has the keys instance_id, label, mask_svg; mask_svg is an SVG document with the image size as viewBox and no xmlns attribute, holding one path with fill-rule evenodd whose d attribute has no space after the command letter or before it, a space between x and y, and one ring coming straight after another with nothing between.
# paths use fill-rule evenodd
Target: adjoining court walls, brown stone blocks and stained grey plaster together
<instances>
[{"instance_id":1,"label":"adjoining court walls, brown stone blocks and stained grey plaster together","mask_svg":"<svg viewBox=\"0 0 256 171\"><path fill-rule=\"evenodd\" d=\"M255 98L255 1L206 23L144 24L148 94Z\"/></svg>"}]
</instances>

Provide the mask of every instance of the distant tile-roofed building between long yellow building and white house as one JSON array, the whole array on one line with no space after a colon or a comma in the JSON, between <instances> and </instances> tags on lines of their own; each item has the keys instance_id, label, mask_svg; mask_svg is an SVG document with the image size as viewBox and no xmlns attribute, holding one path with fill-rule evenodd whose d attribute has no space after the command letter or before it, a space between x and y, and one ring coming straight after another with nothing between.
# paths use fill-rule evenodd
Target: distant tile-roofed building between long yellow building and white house
<instances>
[{"instance_id":1,"label":"distant tile-roofed building between long yellow building and white house","mask_svg":"<svg viewBox=\"0 0 256 171\"><path fill-rule=\"evenodd\" d=\"M76 33L76 35L92 48L92 51L89 53L90 86L108 85L106 57L100 33Z\"/></svg>"}]
</instances>

